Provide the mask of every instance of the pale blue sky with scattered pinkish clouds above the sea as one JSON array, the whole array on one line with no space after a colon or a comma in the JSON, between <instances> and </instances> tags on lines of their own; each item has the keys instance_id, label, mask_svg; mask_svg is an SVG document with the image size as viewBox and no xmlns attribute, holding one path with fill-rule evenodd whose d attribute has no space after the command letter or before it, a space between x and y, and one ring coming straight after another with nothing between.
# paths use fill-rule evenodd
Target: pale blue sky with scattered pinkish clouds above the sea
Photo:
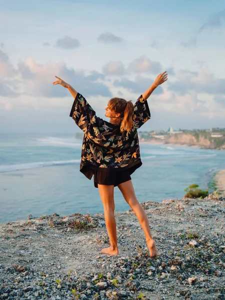
<instances>
[{"instance_id":1,"label":"pale blue sky with scattered pinkish clouds above the sea","mask_svg":"<svg viewBox=\"0 0 225 300\"><path fill-rule=\"evenodd\" d=\"M225 127L224 0L0 0L0 132L81 132L72 85L104 116L147 99L141 130Z\"/></svg>"}]
</instances>

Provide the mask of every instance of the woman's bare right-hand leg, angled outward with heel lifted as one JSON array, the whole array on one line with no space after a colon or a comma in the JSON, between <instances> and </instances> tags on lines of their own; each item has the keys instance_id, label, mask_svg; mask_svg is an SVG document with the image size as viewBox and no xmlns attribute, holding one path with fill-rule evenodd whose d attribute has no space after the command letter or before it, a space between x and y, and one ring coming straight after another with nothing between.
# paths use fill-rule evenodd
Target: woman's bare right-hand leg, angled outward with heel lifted
<instances>
[{"instance_id":1,"label":"woman's bare right-hand leg, angled outward with heel lifted","mask_svg":"<svg viewBox=\"0 0 225 300\"><path fill-rule=\"evenodd\" d=\"M147 247L150 252L150 256L153 257L155 255L158 255L157 248L155 246L155 241L153 240L150 232L150 227L147 219L147 215L143 209L143 207L138 202L134 189L133 184L131 180L122 182L118 184L118 188L120 189L124 199L129 204L129 206L134 211L146 238Z\"/></svg>"}]
</instances>

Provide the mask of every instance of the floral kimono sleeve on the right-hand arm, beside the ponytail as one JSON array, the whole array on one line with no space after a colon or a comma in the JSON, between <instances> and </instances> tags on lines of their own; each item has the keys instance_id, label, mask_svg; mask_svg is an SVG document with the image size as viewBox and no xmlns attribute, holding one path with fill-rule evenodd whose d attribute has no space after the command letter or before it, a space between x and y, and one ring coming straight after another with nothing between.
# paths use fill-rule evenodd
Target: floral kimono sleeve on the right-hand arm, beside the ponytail
<instances>
[{"instance_id":1,"label":"floral kimono sleeve on the right-hand arm, beside the ponytail","mask_svg":"<svg viewBox=\"0 0 225 300\"><path fill-rule=\"evenodd\" d=\"M140 95L134 103L133 120L135 129L140 128L148 119L150 119L150 110L148 107L147 100L144 100L143 96Z\"/></svg>"}]
</instances>

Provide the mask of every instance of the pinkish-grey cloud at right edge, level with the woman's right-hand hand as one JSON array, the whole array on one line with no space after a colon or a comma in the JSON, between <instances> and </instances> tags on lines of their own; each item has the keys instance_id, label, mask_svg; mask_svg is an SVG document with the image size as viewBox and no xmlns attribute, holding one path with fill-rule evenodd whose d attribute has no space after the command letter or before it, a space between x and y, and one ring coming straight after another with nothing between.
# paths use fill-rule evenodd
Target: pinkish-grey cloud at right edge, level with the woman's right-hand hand
<instances>
[{"instance_id":1,"label":"pinkish-grey cloud at right edge, level with the woman's right-hand hand","mask_svg":"<svg viewBox=\"0 0 225 300\"><path fill-rule=\"evenodd\" d=\"M185 94L191 90L208 94L224 94L225 78L216 78L208 68L199 72L179 70L176 73L178 80L168 82L168 89Z\"/></svg>"}]
</instances>

